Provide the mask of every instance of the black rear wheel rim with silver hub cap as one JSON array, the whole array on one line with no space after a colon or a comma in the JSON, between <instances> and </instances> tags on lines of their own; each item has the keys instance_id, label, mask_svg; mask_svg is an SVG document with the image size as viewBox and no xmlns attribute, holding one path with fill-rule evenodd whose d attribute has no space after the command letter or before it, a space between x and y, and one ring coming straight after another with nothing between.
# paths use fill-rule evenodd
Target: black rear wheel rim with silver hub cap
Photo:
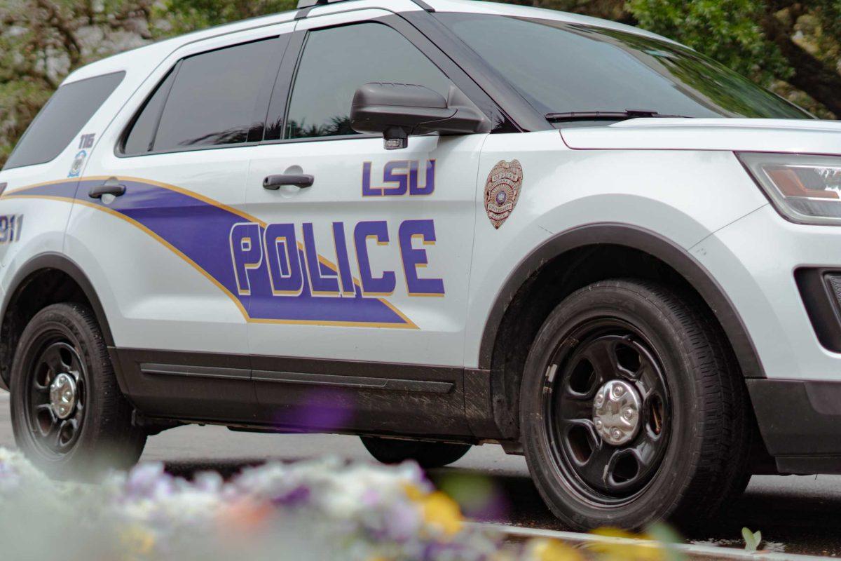
<instances>
[{"instance_id":1,"label":"black rear wheel rim with silver hub cap","mask_svg":"<svg viewBox=\"0 0 841 561\"><path fill-rule=\"evenodd\" d=\"M45 333L32 349L26 364L27 427L37 451L58 459L71 452L82 432L87 373L77 348L62 333ZM56 378L64 384L56 387Z\"/></svg>"}]
</instances>

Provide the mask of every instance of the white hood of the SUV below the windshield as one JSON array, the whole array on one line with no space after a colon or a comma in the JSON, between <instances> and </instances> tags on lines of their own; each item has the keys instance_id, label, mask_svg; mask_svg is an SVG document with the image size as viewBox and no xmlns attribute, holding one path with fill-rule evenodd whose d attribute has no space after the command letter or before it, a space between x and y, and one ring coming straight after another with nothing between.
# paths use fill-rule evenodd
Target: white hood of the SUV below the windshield
<instances>
[{"instance_id":1,"label":"white hood of the SUV below the windshield","mask_svg":"<svg viewBox=\"0 0 841 561\"><path fill-rule=\"evenodd\" d=\"M812 119L628 119L561 130L574 150L727 150L841 155L841 122Z\"/></svg>"}]
</instances>

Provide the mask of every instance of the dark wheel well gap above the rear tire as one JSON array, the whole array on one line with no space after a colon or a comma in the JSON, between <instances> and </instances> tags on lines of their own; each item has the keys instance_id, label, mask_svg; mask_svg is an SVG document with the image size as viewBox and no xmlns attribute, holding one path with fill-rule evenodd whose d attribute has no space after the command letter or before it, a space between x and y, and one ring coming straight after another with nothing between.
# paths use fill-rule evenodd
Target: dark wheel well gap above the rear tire
<instances>
[{"instance_id":1,"label":"dark wheel well gap above the rear tire","mask_svg":"<svg viewBox=\"0 0 841 561\"><path fill-rule=\"evenodd\" d=\"M3 324L0 325L0 376L7 385L15 349L29 320L40 310L60 302L92 307L82 286L71 275L55 268L30 273L15 288L3 313Z\"/></svg>"}]
</instances>

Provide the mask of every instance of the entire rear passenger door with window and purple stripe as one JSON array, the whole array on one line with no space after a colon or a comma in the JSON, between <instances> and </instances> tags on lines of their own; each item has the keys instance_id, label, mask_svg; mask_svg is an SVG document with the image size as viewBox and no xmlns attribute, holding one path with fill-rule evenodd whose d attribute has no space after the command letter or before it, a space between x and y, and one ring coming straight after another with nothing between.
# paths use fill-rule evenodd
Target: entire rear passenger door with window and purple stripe
<instances>
[{"instance_id":1,"label":"entire rear passenger door with window and purple stripe","mask_svg":"<svg viewBox=\"0 0 841 561\"><path fill-rule=\"evenodd\" d=\"M124 385L147 414L230 420L253 410L247 303L235 294L228 240L293 29L172 53L82 177L67 253L108 299Z\"/></svg>"}]
</instances>

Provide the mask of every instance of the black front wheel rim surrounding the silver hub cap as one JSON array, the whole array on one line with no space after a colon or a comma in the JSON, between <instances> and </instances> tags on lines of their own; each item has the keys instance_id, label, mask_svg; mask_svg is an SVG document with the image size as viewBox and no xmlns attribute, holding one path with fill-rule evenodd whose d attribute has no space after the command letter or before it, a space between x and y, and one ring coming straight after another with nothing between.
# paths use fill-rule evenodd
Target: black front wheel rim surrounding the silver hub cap
<instances>
[{"instance_id":1,"label":"black front wheel rim surrounding the silver hub cap","mask_svg":"<svg viewBox=\"0 0 841 561\"><path fill-rule=\"evenodd\" d=\"M596 394L612 380L629 384L641 404L634 436L622 444L606 442L594 421ZM546 366L542 409L562 481L592 505L626 505L663 463L669 385L653 345L625 320L590 320L564 337Z\"/></svg>"}]
</instances>

